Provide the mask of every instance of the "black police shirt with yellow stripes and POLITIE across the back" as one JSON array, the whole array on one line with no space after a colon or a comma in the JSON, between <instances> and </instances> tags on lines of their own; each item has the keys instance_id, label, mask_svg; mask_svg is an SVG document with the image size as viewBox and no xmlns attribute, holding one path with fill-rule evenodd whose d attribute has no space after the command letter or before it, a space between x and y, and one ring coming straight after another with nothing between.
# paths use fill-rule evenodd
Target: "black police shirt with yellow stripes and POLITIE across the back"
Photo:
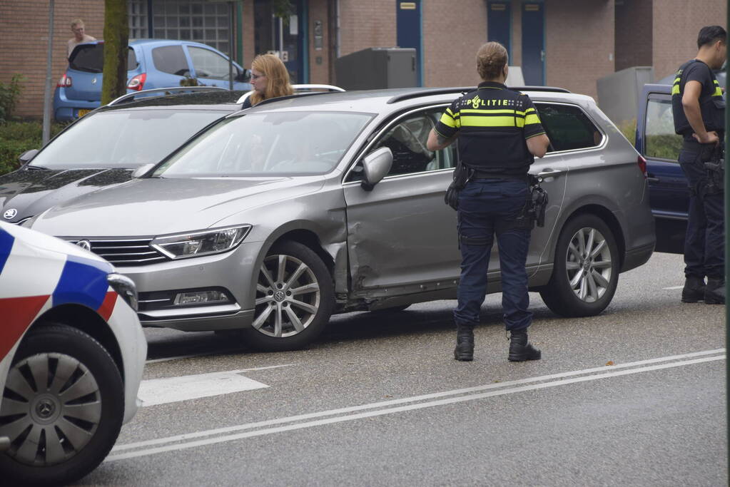
<instances>
[{"instance_id":1,"label":"black police shirt with yellow stripes and POLITIE across the back","mask_svg":"<svg viewBox=\"0 0 730 487\"><path fill-rule=\"evenodd\" d=\"M529 96L483 82L446 109L435 130L458 136L461 163L495 176L523 176L534 157L526 139L545 133Z\"/></svg>"}]
</instances>

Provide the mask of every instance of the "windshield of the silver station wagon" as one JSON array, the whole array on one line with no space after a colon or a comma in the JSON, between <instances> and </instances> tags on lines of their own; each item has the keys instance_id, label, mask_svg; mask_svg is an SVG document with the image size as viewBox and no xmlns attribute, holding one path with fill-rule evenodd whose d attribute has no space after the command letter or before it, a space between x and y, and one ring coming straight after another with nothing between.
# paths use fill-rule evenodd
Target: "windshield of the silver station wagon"
<instances>
[{"instance_id":1,"label":"windshield of the silver station wagon","mask_svg":"<svg viewBox=\"0 0 730 487\"><path fill-rule=\"evenodd\" d=\"M372 114L253 113L222 120L153 176L298 176L331 171Z\"/></svg>"}]
</instances>

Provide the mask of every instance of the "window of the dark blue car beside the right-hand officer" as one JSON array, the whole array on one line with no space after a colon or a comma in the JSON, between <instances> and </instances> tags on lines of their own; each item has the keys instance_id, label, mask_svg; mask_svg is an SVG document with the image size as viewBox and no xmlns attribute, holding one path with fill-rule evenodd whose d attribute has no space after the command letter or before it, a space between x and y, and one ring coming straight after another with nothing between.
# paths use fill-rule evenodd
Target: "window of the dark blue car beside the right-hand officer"
<instances>
[{"instance_id":1,"label":"window of the dark blue car beside the right-hand officer","mask_svg":"<svg viewBox=\"0 0 730 487\"><path fill-rule=\"evenodd\" d=\"M645 155L677 161L682 149L682 136L675 133L672 101L668 98L649 98L645 123Z\"/></svg>"}]
</instances>

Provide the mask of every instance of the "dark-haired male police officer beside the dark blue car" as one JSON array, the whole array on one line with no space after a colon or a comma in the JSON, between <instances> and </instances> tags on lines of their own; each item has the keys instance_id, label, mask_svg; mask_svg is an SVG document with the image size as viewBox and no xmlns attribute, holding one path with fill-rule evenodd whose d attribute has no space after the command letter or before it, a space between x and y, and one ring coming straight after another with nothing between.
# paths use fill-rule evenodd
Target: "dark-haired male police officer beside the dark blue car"
<instances>
[{"instance_id":1,"label":"dark-haired male police officer beside the dark blue car","mask_svg":"<svg viewBox=\"0 0 730 487\"><path fill-rule=\"evenodd\" d=\"M726 39L722 27L703 27L696 58L680 66L672 86L675 131L684 137L679 162L690 186L683 303L725 303L723 191L708 179L704 163L724 144L725 101L712 70L726 59Z\"/></svg>"}]
</instances>

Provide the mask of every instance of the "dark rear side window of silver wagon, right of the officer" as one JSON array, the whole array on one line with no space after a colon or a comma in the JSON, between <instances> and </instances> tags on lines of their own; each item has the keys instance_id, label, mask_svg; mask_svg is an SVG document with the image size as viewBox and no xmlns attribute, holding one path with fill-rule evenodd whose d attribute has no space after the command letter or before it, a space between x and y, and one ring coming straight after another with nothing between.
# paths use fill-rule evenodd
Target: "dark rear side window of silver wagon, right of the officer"
<instances>
[{"instance_id":1,"label":"dark rear side window of silver wagon, right of the officer","mask_svg":"<svg viewBox=\"0 0 730 487\"><path fill-rule=\"evenodd\" d=\"M601 131L578 106L536 103L535 107L553 146L548 152L588 149L601 144Z\"/></svg>"}]
</instances>

